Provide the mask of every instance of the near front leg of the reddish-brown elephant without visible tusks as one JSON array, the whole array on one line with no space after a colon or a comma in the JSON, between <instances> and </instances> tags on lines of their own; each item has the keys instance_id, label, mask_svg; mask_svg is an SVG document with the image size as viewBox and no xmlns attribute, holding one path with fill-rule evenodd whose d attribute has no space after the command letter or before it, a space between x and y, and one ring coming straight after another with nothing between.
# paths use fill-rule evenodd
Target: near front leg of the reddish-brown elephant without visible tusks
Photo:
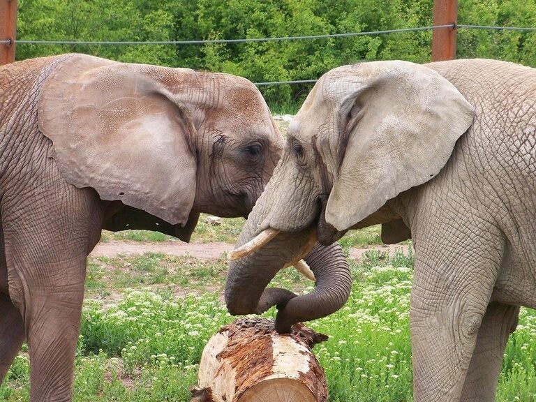
<instances>
[{"instance_id":1,"label":"near front leg of the reddish-brown elephant without visible tusks","mask_svg":"<svg viewBox=\"0 0 536 402\"><path fill-rule=\"evenodd\" d=\"M73 186L38 199L3 205L9 292L24 320L31 401L70 401L87 254L103 211L89 189Z\"/></svg>"}]
</instances>

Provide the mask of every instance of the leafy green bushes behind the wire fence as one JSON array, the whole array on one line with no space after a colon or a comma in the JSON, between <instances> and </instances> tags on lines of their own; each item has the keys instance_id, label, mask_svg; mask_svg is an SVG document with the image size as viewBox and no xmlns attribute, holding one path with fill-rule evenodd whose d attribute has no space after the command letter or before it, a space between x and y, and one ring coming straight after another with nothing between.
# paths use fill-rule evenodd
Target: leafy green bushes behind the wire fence
<instances>
[{"instance_id":1,"label":"leafy green bushes behind the wire fence","mask_svg":"<svg viewBox=\"0 0 536 402\"><path fill-rule=\"evenodd\" d=\"M145 41L271 38L432 25L433 0L19 0L20 40ZM459 24L536 27L535 0L459 0ZM315 80L363 60L431 59L431 31L204 45L17 45L17 59L82 52L221 71L253 82ZM459 29L458 58L536 65L536 32ZM311 84L261 87L275 112L295 112Z\"/></svg>"}]
</instances>

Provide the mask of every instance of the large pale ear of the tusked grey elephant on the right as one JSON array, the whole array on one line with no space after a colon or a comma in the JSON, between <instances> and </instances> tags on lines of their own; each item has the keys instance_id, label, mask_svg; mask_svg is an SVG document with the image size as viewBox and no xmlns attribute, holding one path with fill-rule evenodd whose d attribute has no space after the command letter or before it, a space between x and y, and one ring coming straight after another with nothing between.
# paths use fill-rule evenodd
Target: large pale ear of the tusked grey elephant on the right
<instances>
[{"instance_id":1,"label":"large pale ear of the tusked grey elephant on the right","mask_svg":"<svg viewBox=\"0 0 536 402\"><path fill-rule=\"evenodd\" d=\"M418 64L376 61L332 71L326 78L338 100L341 163L326 221L343 231L435 177L472 124L474 108Z\"/></svg>"}]
</instances>

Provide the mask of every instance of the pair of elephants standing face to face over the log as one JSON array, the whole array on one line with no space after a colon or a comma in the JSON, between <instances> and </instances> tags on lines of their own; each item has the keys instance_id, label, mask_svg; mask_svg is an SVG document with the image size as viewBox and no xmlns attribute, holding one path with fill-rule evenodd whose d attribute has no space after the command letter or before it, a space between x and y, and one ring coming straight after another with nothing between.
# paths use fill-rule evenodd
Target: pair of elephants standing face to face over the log
<instances>
[{"instance_id":1,"label":"pair of elephants standing face to face over the log","mask_svg":"<svg viewBox=\"0 0 536 402\"><path fill-rule=\"evenodd\" d=\"M343 66L283 144L239 77L79 54L1 67L0 378L26 339L31 400L70 400L101 228L188 241L209 212L249 214L239 246L276 233L230 262L225 298L278 306L279 332L345 303L345 232L412 237L415 401L493 400L519 306L536 306L534 89L500 61ZM313 292L266 288L304 256Z\"/></svg>"}]
</instances>

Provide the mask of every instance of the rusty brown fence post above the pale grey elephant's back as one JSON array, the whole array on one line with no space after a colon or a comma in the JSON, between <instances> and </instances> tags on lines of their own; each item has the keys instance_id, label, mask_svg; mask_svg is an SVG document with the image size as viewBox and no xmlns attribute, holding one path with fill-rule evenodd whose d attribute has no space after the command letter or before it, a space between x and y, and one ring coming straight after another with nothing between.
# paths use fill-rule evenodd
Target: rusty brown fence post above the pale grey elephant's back
<instances>
[{"instance_id":1,"label":"rusty brown fence post above the pale grey elephant's back","mask_svg":"<svg viewBox=\"0 0 536 402\"><path fill-rule=\"evenodd\" d=\"M433 24L453 24L452 28L438 28L432 34L432 61L456 59L456 22L458 0L434 0Z\"/></svg>"}]
</instances>

